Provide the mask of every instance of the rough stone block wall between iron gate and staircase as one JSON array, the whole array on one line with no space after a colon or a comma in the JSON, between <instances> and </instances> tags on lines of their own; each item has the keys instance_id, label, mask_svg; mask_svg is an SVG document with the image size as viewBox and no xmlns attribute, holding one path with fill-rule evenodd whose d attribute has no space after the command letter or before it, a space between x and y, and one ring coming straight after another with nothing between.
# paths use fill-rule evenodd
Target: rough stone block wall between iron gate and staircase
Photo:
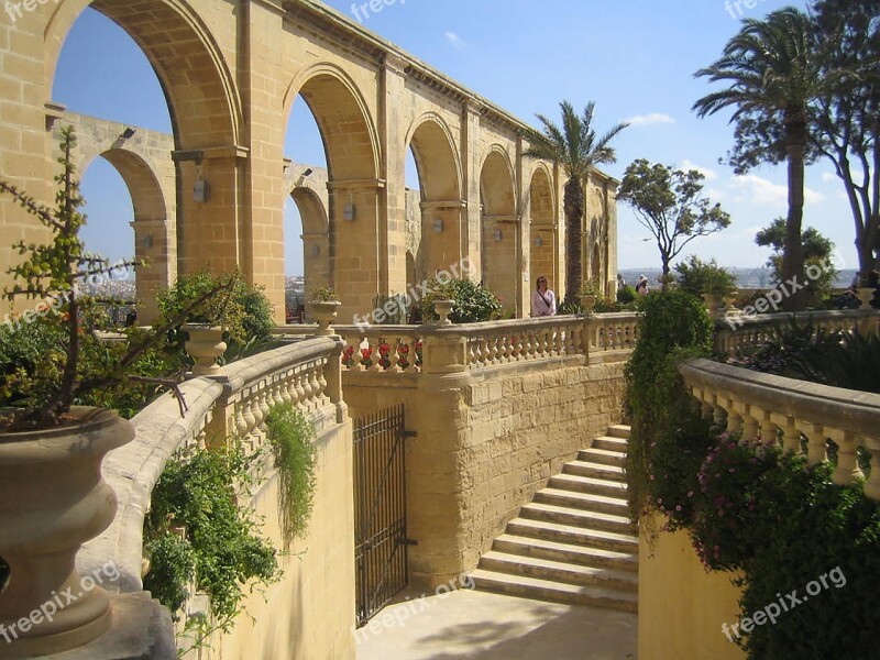
<instances>
[{"instance_id":1,"label":"rough stone block wall between iron gate and staircase","mask_svg":"<svg viewBox=\"0 0 880 660\"><path fill-rule=\"evenodd\" d=\"M490 369L460 380L345 373L353 417L405 404L410 582L473 570L519 507L579 449L620 421L624 362Z\"/></svg>"}]
</instances>

